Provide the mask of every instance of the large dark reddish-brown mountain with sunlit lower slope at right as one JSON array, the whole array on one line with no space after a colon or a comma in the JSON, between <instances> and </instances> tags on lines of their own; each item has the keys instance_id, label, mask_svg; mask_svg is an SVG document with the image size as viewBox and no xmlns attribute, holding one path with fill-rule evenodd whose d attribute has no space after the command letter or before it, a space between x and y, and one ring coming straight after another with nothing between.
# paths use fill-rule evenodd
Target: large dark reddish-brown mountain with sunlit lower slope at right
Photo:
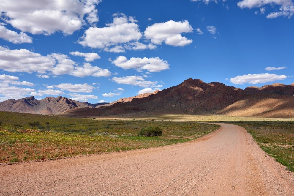
<instances>
[{"instance_id":1,"label":"large dark reddish-brown mountain with sunlit lower slope at right","mask_svg":"<svg viewBox=\"0 0 294 196\"><path fill-rule=\"evenodd\" d=\"M289 85L273 85L275 90L255 91L226 86L219 82L205 83L189 78L144 98L115 103L108 107L68 110L67 116L99 116L126 113L149 114L225 114L232 116L293 117L294 97L280 95ZM290 85L291 86L291 85ZM268 89L268 88L267 88ZM288 94L288 93L287 93ZM275 114L278 114L275 116Z\"/></svg>"}]
</instances>

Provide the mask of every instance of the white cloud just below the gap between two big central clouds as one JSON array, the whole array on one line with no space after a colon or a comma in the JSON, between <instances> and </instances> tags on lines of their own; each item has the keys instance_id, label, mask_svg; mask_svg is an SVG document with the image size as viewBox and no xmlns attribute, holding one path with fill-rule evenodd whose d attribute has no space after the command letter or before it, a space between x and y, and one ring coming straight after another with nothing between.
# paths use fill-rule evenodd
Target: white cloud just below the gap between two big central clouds
<instances>
[{"instance_id":1,"label":"white cloud just below the gap between two big central clouds","mask_svg":"<svg viewBox=\"0 0 294 196\"><path fill-rule=\"evenodd\" d=\"M159 59L159 57L155 57L155 58L132 57L131 59L128 60L125 56L119 56L111 63L123 69L137 69L137 70L146 69L149 72L160 72L162 70L169 69L168 62L165 60Z\"/></svg>"}]
</instances>

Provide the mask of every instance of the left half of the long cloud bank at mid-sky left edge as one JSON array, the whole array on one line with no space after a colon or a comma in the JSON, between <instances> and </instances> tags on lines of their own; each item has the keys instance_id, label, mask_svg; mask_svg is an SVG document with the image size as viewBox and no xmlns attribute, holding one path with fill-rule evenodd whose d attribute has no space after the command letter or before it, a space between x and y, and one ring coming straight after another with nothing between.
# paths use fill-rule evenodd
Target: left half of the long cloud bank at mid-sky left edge
<instances>
[{"instance_id":1,"label":"left half of the long cloud bank at mid-sky left edge","mask_svg":"<svg viewBox=\"0 0 294 196\"><path fill-rule=\"evenodd\" d=\"M26 49L10 50L0 46L0 69L8 72L38 72L52 70L55 59Z\"/></svg>"}]
</instances>

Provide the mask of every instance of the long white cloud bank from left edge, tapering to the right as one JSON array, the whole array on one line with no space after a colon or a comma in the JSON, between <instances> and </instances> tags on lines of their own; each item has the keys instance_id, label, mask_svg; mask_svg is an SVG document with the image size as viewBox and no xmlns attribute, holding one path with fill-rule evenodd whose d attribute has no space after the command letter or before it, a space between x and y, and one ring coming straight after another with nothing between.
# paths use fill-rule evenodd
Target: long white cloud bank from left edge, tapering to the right
<instances>
[{"instance_id":1,"label":"long white cloud bank from left edge, tapering to the right","mask_svg":"<svg viewBox=\"0 0 294 196\"><path fill-rule=\"evenodd\" d=\"M85 63L82 67L61 53L47 56L31 52L26 49L10 50L0 46L0 69L8 72L38 72L38 78L50 78L49 75L74 75L77 77L95 76L108 77L111 72L97 66ZM48 75L49 72L49 75Z\"/></svg>"}]
</instances>

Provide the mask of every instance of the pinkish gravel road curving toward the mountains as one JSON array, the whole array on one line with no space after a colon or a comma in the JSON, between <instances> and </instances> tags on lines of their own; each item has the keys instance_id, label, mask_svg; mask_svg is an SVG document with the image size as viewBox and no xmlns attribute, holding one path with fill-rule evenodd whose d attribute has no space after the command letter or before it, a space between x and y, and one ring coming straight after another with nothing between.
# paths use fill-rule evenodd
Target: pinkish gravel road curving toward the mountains
<instances>
[{"instance_id":1,"label":"pinkish gravel road curving toward the mountains","mask_svg":"<svg viewBox=\"0 0 294 196\"><path fill-rule=\"evenodd\" d=\"M192 142L0 166L0 195L293 195L294 175L242 127Z\"/></svg>"}]
</instances>

